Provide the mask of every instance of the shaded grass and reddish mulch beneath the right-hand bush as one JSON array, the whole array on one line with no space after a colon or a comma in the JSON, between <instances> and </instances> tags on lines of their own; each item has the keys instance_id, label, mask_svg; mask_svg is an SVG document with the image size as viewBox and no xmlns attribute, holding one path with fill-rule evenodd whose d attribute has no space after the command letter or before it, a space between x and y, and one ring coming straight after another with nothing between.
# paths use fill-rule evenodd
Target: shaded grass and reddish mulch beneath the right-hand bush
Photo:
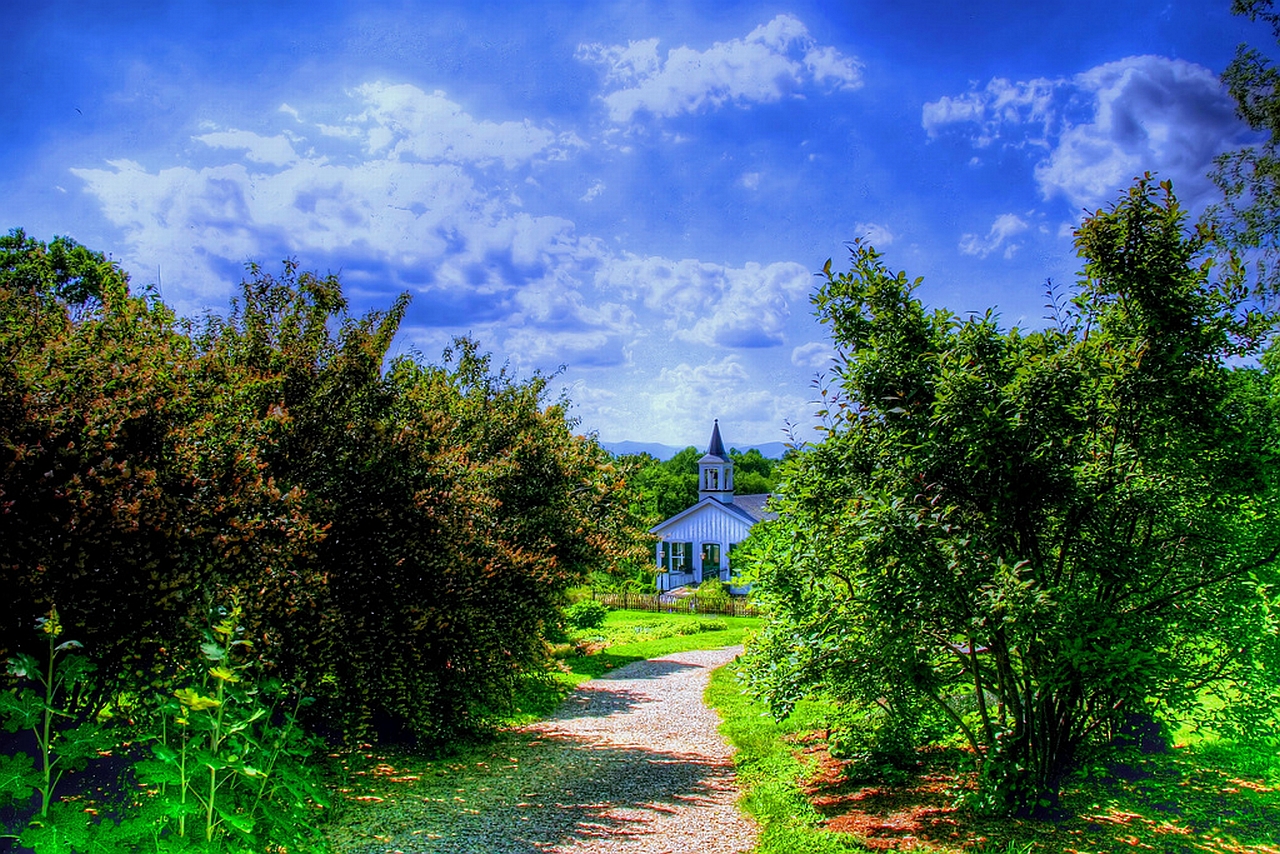
<instances>
[{"instance_id":1,"label":"shaded grass and reddish mulch beneath the right-hand bush","mask_svg":"<svg viewBox=\"0 0 1280 854\"><path fill-rule=\"evenodd\" d=\"M1028 850L1050 854L1146 850L1161 854L1280 851L1280 794L1260 777L1215 767L1190 750L1130 757L1062 793L1070 817L1056 822L983 818L957 809L972 777L938 753L895 785L858 784L820 746L806 794L829 830L870 849Z\"/></svg>"}]
</instances>

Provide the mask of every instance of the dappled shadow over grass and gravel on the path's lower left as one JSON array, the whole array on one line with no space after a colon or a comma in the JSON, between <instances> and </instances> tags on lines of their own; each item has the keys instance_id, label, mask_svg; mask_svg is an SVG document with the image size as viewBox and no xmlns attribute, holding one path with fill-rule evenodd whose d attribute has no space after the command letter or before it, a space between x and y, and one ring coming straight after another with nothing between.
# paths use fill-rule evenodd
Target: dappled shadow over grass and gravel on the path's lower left
<instances>
[{"instance_id":1,"label":"dappled shadow over grass and gravel on the path's lower left","mask_svg":"<svg viewBox=\"0 0 1280 854\"><path fill-rule=\"evenodd\" d=\"M348 761L338 851L504 851L645 832L658 814L728 785L732 768L662 750L506 734L454 761ZM608 793L605 795L605 793Z\"/></svg>"}]
</instances>

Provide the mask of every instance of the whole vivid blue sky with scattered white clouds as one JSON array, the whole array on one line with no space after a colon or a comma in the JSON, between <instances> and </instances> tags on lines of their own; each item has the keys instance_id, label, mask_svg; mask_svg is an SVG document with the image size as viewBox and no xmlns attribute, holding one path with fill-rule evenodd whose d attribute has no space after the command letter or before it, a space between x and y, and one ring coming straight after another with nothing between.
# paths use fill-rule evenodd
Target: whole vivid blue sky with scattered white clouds
<instances>
[{"instance_id":1,"label":"whole vivid blue sky with scattered white clouds","mask_svg":"<svg viewBox=\"0 0 1280 854\"><path fill-rule=\"evenodd\" d=\"M850 241L1034 328L1134 177L1213 201L1229 5L0 0L0 229L188 316L250 261L408 292L394 355L470 335L604 442L808 439Z\"/></svg>"}]
</instances>

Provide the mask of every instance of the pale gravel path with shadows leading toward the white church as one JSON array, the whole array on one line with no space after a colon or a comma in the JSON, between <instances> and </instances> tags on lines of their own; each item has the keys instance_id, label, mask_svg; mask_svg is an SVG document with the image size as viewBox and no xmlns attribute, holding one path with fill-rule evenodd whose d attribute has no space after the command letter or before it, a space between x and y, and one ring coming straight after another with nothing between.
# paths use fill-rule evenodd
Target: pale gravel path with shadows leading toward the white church
<instances>
[{"instance_id":1,"label":"pale gravel path with shadows leading toward the white church","mask_svg":"<svg viewBox=\"0 0 1280 854\"><path fill-rule=\"evenodd\" d=\"M756 828L736 807L732 753L703 703L712 670L739 652L618 668L511 732L486 762L378 766L376 790L396 794L351 816L334 842L362 853L749 851Z\"/></svg>"}]
</instances>

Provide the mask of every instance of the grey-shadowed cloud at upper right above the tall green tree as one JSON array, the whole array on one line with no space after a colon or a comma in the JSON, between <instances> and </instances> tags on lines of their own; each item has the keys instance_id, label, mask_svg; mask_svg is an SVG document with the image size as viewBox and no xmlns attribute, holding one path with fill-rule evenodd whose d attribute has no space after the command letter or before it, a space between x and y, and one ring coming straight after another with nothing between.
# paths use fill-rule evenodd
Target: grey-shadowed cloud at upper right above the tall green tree
<instances>
[{"instance_id":1,"label":"grey-shadowed cloud at upper right above the tall green tree","mask_svg":"<svg viewBox=\"0 0 1280 854\"><path fill-rule=\"evenodd\" d=\"M1247 129L1217 76L1165 56L1129 56L1070 78L1010 82L925 104L931 137L960 133L975 147L1043 150L1034 168L1044 198L1097 207L1143 172L1171 178L1194 204L1210 191L1213 156Z\"/></svg>"}]
</instances>

